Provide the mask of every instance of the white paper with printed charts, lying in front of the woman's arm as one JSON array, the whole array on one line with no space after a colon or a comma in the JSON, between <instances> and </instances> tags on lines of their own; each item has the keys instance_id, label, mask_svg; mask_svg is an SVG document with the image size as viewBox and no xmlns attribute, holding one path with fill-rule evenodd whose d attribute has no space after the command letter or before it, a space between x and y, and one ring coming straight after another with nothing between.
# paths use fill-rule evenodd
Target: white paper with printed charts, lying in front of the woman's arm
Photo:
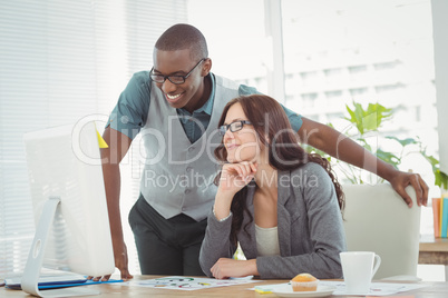
<instances>
[{"instance_id":1,"label":"white paper with printed charts, lying in front of the woman's arm","mask_svg":"<svg viewBox=\"0 0 448 298\"><path fill-rule=\"evenodd\" d=\"M175 289L175 290L199 290L216 287L228 287L249 282L259 282L261 280L252 279L214 279L195 278L187 276L169 276L147 280L133 280L125 282L125 286L137 286L146 288Z\"/></svg>"}]
</instances>

